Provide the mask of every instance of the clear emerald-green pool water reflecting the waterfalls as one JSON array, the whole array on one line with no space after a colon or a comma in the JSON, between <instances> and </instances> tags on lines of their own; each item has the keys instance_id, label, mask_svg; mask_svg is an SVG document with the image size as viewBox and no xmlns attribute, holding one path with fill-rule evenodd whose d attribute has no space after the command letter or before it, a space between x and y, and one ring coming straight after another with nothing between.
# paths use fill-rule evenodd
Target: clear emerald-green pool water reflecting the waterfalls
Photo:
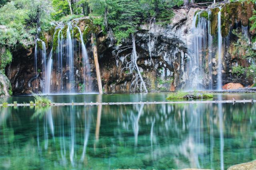
<instances>
[{"instance_id":1,"label":"clear emerald-green pool water reflecting the waterfalls","mask_svg":"<svg viewBox=\"0 0 256 170\"><path fill-rule=\"evenodd\" d=\"M135 102L166 95L49 97ZM215 96L230 97L255 99ZM17 98L30 100L6 100ZM255 159L256 104L0 107L0 169L222 170Z\"/></svg>"}]
</instances>

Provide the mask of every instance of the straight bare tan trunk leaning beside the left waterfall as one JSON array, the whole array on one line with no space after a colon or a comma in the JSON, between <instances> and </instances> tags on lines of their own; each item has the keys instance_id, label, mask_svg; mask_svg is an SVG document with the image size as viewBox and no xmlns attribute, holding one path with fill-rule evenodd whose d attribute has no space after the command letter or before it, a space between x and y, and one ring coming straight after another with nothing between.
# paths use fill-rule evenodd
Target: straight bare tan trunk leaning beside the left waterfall
<instances>
[{"instance_id":1,"label":"straight bare tan trunk leaning beside the left waterfall","mask_svg":"<svg viewBox=\"0 0 256 170\"><path fill-rule=\"evenodd\" d=\"M98 62L98 51L97 51L97 43L96 43L96 36L95 33L92 33L92 49L93 49L93 56L94 56L94 63L95 63L95 69L97 74L97 81L98 81L98 87L99 87L99 93L102 94L102 84L101 84L101 78L100 78L100 66Z\"/></svg>"}]
</instances>

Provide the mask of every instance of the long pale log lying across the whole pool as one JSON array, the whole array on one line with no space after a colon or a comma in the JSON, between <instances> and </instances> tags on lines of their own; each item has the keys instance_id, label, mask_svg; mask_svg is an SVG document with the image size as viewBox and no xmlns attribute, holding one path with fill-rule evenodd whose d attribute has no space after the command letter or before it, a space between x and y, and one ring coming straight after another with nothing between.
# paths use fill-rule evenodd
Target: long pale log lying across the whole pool
<instances>
[{"instance_id":1,"label":"long pale log lying across the whole pool","mask_svg":"<svg viewBox=\"0 0 256 170\"><path fill-rule=\"evenodd\" d=\"M214 100L177 102L110 102L110 103L52 103L50 106L92 106L92 105L131 105L131 104L209 104L209 103L256 103L256 100ZM37 106L36 104L0 104L0 106Z\"/></svg>"}]
</instances>

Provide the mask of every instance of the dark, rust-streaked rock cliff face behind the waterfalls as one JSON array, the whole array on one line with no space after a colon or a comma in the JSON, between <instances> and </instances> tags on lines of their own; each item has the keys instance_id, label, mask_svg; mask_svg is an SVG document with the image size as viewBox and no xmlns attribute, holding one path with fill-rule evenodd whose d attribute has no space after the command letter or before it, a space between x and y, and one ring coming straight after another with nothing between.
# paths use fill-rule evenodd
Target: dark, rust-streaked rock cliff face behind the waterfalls
<instances>
[{"instance_id":1,"label":"dark, rust-streaked rock cliff face behind the waterfalls","mask_svg":"<svg viewBox=\"0 0 256 170\"><path fill-rule=\"evenodd\" d=\"M229 8L228 8L229 9ZM140 26L140 29L136 32L136 51L138 53L137 64L140 72L146 83L149 92L156 91L173 91L178 89L184 89L191 84L191 61L193 59L193 53L190 51L190 47L193 45L194 32L192 30L192 23L194 14L200 10L199 8L179 9L175 10L175 16L172 22L168 25L161 25L152 21L151 24L144 24ZM250 8L252 10L252 8ZM249 10L249 11L250 11ZM248 9L246 8L246 11ZM251 13L248 12L251 15ZM227 14L225 14L228 16ZM231 15L231 17L233 17ZM248 17L247 17L248 18ZM225 20L226 21L226 20ZM76 20L77 22L77 20ZM78 26L83 31L86 31L88 27L88 20L81 20ZM225 23L227 24L227 23ZM212 26L214 27L214 25ZM67 29L64 27L63 29ZM247 28L248 29L248 28ZM74 31L76 34L78 31ZM251 36L252 33L249 33ZM54 31L44 35L44 41L46 41L46 53L50 54L51 47L54 47ZM65 35L66 36L66 35ZM74 35L76 39L77 51L81 51L81 46L78 43L79 36ZM132 84L133 75L128 74L128 70L125 68L124 57L130 53L129 50L123 51L118 56L116 53L112 53L114 50L131 45L131 42L124 42L121 46L114 45L110 35L103 35L98 31L97 46L99 55L100 72L102 76L102 85L104 91L107 93L112 92L136 92ZM232 75L230 68L240 63L247 63L245 59L232 58L232 42L236 39L230 38L229 44L224 44L223 48L223 75L222 84L234 82L241 83L243 86L252 84L252 80L246 79L244 76L237 77ZM90 74L90 82L92 85L90 91L97 92L96 72L92 55L92 44L90 43L90 34L84 32L84 42L88 52L88 59L90 70L86 70L86 74ZM205 42L206 43L206 42ZM79 44L79 45L78 45ZM56 44L55 44L56 45ZM64 45L66 46L66 45ZM207 49L203 49L207 51ZM203 51L202 50L202 51ZM37 58L37 69L35 67L34 58L35 49L16 49L13 51L13 61L6 68L6 75L8 76L14 94L31 94L43 91L44 88L44 73L42 72L42 58ZM205 62L216 63L216 57L211 61L208 59L208 54L204 56ZM53 57L53 63L56 63ZM79 92L83 83L84 68L82 68L82 56L77 53L74 57L74 86ZM54 65L55 66L55 65ZM53 68L55 68L53 66ZM216 86L216 64L212 65L213 87ZM202 64L202 70L207 72L207 66ZM68 79L69 70L64 70L64 80ZM58 70L53 69L52 74L57 74ZM206 87L208 84L208 77L202 78L202 87ZM59 82L56 77L51 77L51 87L59 86ZM68 85L67 85L68 86Z\"/></svg>"}]
</instances>

